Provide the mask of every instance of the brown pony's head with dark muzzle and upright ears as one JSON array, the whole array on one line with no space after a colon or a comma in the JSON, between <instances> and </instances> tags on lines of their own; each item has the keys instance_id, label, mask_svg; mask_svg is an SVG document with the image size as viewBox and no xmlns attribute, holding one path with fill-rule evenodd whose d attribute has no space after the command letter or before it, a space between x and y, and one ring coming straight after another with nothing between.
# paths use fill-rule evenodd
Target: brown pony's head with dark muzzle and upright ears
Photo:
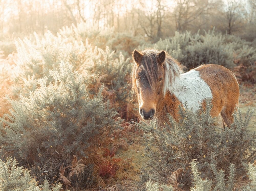
<instances>
[{"instance_id":1,"label":"brown pony's head with dark muzzle and upright ears","mask_svg":"<svg viewBox=\"0 0 256 191\"><path fill-rule=\"evenodd\" d=\"M138 97L140 115L145 120L154 119L157 103L166 93L166 53L157 50L134 50L132 57L132 89Z\"/></svg>"}]
</instances>

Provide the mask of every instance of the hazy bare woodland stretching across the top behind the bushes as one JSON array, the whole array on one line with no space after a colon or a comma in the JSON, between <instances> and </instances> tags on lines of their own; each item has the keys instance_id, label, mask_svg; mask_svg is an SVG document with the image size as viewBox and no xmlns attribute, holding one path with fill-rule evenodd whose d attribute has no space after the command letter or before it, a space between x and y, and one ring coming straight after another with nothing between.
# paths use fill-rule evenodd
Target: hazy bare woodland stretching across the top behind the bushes
<instances>
[{"instance_id":1,"label":"hazy bare woodland stretching across the top behind the bushes","mask_svg":"<svg viewBox=\"0 0 256 191\"><path fill-rule=\"evenodd\" d=\"M253 40L256 1L236 0L1 0L0 31L12 36L34 31L58 32L72 23L142 35L151 41L174 35L215 30Z\"/></svg>"}]
</instances>

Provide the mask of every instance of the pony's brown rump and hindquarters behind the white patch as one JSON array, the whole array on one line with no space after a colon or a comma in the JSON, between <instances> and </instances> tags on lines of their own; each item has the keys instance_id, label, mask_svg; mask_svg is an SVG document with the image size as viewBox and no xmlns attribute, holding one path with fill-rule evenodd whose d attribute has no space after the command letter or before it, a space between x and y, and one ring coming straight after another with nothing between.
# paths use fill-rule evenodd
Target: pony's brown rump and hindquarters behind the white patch
<instances>
[{"instance_id":1,"label":"pony's brown rump and hindquarters behind the white patch","mask_svg":"<svg viewBox=\"0 0 256 191\"><path fill-rule=\"evenodd\" d=\"M239 100L239 85L234 74L224 66L213 64L202 65L194 70L199 72L200 77L211 88L214 106L212 115L218 116L221 113L223 118L231 116ZM232 122L230 119L226 121L229 124Z\"/></svg>"}]
</instances>

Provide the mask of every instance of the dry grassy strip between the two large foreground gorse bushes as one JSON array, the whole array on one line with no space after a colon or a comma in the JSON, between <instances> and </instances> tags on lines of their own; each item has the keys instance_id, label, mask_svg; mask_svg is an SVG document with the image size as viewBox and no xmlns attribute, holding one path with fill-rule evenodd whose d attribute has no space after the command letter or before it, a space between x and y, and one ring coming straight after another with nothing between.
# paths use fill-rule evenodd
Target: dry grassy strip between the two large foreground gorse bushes
<instances>
[{"instance_id":1,"label":"dry grassy strip between the two large foreground gorse bushes","mask_svg":"<svg viewBox=\"0 0 256 191\"><path fill-rule=\"evenodd\" d=\"M104 187L106 191L138 190L140 169L147 158L143 156L145 148L143 132L134 124L130 124L130 127L125 134L126 147L119 147L115 154L116 158L122 159L120 168L116 172L116 176L109 180L110 184Z\"/></svg>"}]
</instances>

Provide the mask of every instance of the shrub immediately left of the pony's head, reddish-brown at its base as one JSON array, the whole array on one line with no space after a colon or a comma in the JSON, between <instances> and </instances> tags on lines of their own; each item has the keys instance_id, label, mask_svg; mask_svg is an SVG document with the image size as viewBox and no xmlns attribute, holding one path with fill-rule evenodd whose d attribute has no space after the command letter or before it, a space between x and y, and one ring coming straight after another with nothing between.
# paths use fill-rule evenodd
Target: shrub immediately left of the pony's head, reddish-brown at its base
<instances>
[{"instance_id":1,"label":"shrub immediately left of the pony's head, reddish-brown at its base","mask_svg":"<svg viewBox=\"0 0 256 191\"><path fill-rule=\"evenodd\" d=\"M104 85L104 98L110 100L111 106L118 111L120 117L130 118L132 95L129 81L133 64L129 62L129 58L125 59L121 52L119 58L114 58L114 51L109 47L105 51L96 47L91 54L91 60L93 63L86 67L90 74L87 79L90 93L95 94Z\"/></svg>"}]
</instances>

